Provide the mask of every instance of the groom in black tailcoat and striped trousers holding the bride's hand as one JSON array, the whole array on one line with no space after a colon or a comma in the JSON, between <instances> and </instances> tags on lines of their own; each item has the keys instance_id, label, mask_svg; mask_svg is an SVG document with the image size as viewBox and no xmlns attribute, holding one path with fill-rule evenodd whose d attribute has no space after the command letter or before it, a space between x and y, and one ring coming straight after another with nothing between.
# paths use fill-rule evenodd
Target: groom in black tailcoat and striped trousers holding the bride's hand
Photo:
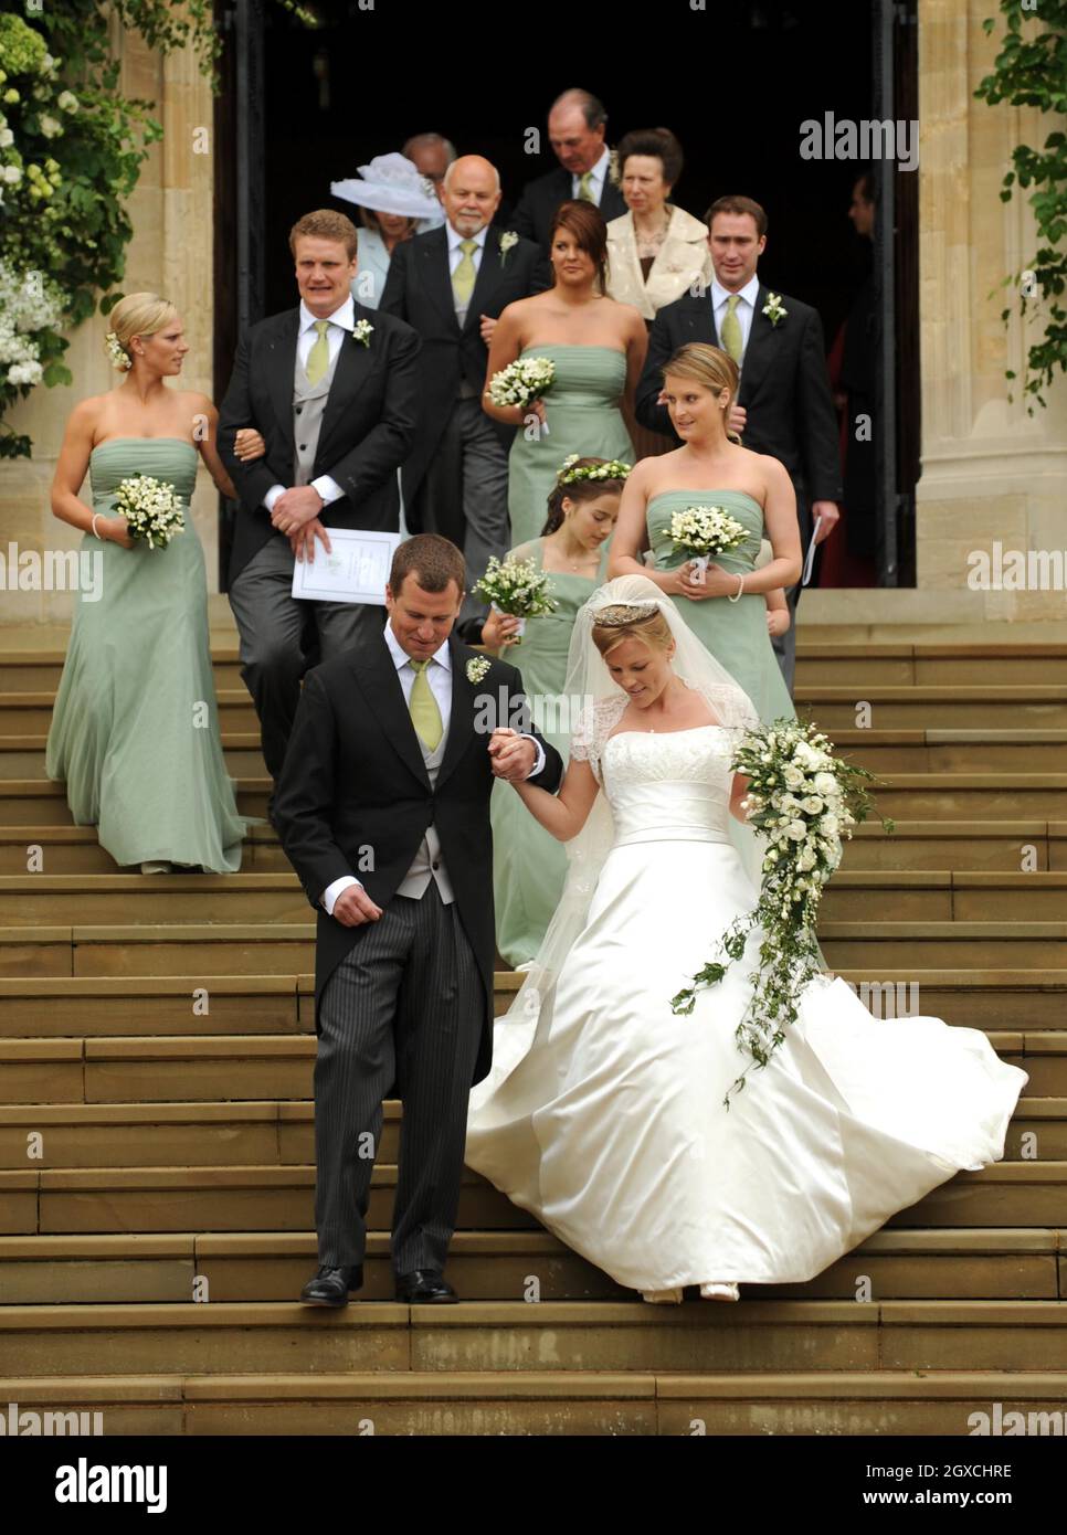
<instances>
[{"instance_id":1,"label":"groom in black tailcoat and striped trousers holding the bride's hand","mask_svg":"<svg viewBox=\"0 0 1067 1535\"><path fill-rule=\"evenodd\" d=\"M315 1223L307 1305L362 1286L382 1099L404 1102L393 1208L396 1299L454 1302L467 1099L493 1053L493 780L556 792L559 752L524 717L514 666L451 635L464 557L438 534L396 550L384 634L307 674L275 823L318 913ZM485 723L485 703L500 718ZM359 876L356 876L359 870Z\"/></svg>"}]
</instances>

